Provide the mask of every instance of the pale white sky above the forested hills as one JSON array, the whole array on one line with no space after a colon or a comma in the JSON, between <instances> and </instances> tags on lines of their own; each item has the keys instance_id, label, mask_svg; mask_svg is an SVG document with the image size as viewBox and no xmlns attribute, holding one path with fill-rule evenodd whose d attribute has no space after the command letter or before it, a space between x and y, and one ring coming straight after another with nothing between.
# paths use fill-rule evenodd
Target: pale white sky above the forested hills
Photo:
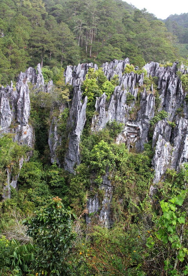
<instances>
[{"instance_id":1,"label":"pale white sky above the forested hills","mask_svg":"<svg viewBox=\"0 0 188 276\"><path fill-rule=\"evenodd\" d=\"M124 1L124 0L123 0ZM128 4L134 5L139 10L147 9L147 12L153 13L158 19L166 19L171 14L187 13L188 1L175 0L131 0L126 1Z\"/></svg>"}]
</instances>

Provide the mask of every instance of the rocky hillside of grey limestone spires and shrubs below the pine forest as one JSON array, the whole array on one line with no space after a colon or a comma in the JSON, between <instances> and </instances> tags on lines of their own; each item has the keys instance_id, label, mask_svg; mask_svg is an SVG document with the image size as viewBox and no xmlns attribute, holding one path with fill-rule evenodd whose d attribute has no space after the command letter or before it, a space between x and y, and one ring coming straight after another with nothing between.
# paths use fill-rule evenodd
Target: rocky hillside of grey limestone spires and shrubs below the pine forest
<instances>
[{"instance_id":1,"label":"rocky hillside of grey limestone spires and shrubs below the pine forest","mask_svg":"<svg viewBox=\"0 0 188 276\"><path fill-rule=\"evenodd\" d=\"M17 240L0 239L5 275L186 273L187 66L85 63L55 85L52 73L45 84L38 64L0 89L1 229Z\"/></svg>"}]
</instances>

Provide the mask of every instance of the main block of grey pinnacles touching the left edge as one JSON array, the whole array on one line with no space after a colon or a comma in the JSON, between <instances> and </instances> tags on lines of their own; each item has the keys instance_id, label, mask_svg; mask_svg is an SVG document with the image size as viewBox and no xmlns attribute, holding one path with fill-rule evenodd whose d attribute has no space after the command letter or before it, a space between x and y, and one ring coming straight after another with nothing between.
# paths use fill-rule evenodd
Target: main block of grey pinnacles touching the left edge
<instances>
[{"instance_id":1,"label":"main block of grey pinnacles touching the left edge","mask_svg":"<svg viewBox=\"0 0 188 276\"><path fill-rule=\"evenodd\" d=\"M13 133L19 144L34 145L32 126L29 124L30 99L27 82L19 79L16 87L0 89L0 133Z\"/></svg>"}]
</instances>

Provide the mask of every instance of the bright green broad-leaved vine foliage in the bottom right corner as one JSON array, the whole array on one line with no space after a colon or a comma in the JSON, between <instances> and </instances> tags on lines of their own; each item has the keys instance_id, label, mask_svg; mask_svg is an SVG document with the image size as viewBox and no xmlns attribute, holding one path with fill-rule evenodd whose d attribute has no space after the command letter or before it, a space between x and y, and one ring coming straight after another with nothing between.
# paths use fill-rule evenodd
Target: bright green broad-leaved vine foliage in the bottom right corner
<instances>
[{"instance_id":1,"label":"bright green broad-leaved vine foliage in the bottom right corner","mask_svg":"<svg viewBox=\"0 0 188 276\"><path fill-rule=\"evenodd\" d=\"M146 255L148 273L155 271L156 275L161 275L162 271L166 271L166 275L188 274L185 197L186 192L182 191L167 202L164 200L160 202L163 215L156 225L157 231L150 232L151 235L146 243L149 248L149 254ZM156 256L152 257L152 261L151 254Z\"/></svg>"}]
</instances>

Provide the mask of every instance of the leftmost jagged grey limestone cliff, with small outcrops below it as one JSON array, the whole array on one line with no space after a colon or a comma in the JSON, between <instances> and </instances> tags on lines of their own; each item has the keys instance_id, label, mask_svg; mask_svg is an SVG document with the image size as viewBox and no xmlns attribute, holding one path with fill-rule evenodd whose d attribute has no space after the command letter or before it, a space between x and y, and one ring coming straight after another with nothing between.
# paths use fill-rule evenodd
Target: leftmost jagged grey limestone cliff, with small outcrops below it
<instances>
[{"instance_id":1,"label":"leftmost jagged grey limestone cliff, with small outcrops below it","mask_svg":"<svg viewBox=\"0 0 188 276\"><path fill-rule=\"evenodd\" d=\"M37 73L38 71L38 73ZM33 89L45 90L44 78L42 76L40 64L37 71L29 67L25 73L20 73L16 86L0 88L0 134L11 133L13 141L19 145L28 145L31 149L34 147L35 136L32 125L29 123L30 118L30 98L29 87L30 82ZM24 159L19 160L19 168L22 168ZM10 197L10 185L16 187L17 176L12 177L12 168L7 168L7 186L5 187L4 197Z\"/></svg>"}]
</instances>

